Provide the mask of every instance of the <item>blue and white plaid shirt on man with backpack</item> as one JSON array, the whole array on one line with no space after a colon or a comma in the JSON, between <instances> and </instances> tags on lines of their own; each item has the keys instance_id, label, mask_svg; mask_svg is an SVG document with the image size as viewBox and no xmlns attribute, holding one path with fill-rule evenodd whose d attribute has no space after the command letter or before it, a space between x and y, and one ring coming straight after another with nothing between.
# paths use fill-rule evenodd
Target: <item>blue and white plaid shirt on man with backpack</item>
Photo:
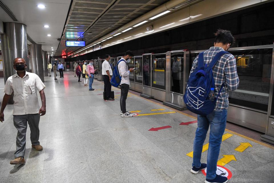
<instances>
[{"instance_id":1,"label":"blue and white plaid shirt on man with backpack","mask_svg":"<svg viewBox=\"0 0 274 183\"><path fill-rule=\"evenodd\" d=\"M204 52L204 64L209 64L213 57L219 52L224 51L221 47L211 47ZM190 73L192 73L198 65L198 56L195 58L192 64ZM226 53L221 56L217 63L212 68L213 79L215 83L216 96L221 89L223 83L223 89L220 96L216 101L214 110L219 111L228 109L228 90L236 90L239 86L239 77L237 74L236 60L231 53Z\"/></svg>"}]
</instances>

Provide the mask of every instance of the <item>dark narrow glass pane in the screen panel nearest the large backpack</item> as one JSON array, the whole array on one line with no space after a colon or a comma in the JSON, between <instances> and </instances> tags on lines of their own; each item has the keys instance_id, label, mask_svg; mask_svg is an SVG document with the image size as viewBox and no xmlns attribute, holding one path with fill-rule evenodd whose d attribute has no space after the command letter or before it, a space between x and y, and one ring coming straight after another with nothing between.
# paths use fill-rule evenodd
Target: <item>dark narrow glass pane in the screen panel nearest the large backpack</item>
<instances>
[{"instance_id":1,"label":"dark narrow glass pane in the screen panel nearest the large backpack","mask_svg":"<svg viewBox=\"0 0 274 183\"><path fill-rule=\"evenodd\" d=\"M171 54L171 82L170 91L184 94L184 54Z\"/></svg>"}]
</instances>

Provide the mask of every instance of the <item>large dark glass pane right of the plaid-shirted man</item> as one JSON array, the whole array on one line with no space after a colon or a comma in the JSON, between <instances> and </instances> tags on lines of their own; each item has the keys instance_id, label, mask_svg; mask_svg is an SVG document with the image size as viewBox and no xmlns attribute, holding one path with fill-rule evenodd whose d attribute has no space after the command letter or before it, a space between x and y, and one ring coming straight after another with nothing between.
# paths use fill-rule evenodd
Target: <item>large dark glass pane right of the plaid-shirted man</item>
<instances>
[{"instance_id":1,"label":"large dark glass pane right of the plaid-shirted man","mask_svg":"<svg viewBox=\"0 0 274 183\"><path fill-rule=\"evenodd\" d=\"M229 103L267 111L272 49L232 50L236 59L239 87L229 91Z\"/></svg>"}]
</instances>

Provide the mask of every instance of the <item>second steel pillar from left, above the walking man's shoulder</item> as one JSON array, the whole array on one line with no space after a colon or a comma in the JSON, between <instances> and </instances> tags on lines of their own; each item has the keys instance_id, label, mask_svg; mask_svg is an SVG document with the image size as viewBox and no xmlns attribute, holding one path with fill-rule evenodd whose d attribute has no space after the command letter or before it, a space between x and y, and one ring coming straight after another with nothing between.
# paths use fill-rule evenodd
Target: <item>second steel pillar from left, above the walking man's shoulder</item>
<instances>
[{"instance_id":1,"label":"second steel pillar from left, above the walking man's shoulder","mask_svg":"<svg viewBox=\"0 0 274 183\"><path fill-rule=\"evenodd\" d=\"M44 67L42 58L42 45L31 44L31 62L32 62L32 72L37 74L40 79L44 82Z\"/></svg>"}]
</instances>

